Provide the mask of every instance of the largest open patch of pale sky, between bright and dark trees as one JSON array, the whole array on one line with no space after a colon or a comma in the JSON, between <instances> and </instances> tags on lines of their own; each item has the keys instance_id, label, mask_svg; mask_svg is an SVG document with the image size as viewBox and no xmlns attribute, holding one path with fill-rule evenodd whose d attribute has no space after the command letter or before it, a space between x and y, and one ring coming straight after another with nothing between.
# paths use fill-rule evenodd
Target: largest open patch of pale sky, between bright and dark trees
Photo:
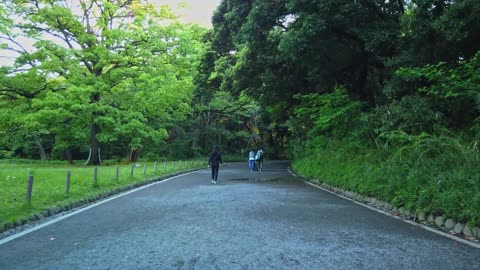
<instances>
[{"instance_id":1,"label":"largest open patch of pale sky, between bright and dark trees","mask_svg":"<svg viewBox=\"0 0 480 270\"><path fill-rule=\"evenodd\" d=\"M198 23L211 27L213 11L220 4L221 0L149 0L155 5L169 5L172 10L182 16L182 21ZM186 7L178 8L184 3Z\"/></svg>"}]
</instances>

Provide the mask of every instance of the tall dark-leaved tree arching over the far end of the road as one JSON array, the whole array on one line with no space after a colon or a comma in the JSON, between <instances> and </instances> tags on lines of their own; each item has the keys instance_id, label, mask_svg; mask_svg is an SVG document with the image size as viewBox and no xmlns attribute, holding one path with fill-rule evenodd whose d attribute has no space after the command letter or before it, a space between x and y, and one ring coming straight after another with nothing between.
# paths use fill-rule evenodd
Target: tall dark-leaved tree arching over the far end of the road
<instances>
[{"instance_id":1,"label":"tall dark-leaved tree arching over the far end of the road","mask_svg":"<svg viewBox=\"0 0 480 270\"><path fill-rule=\"evenodd\" d=\"M403 1L222 1L200 85L252 97L271 144L283 145L297 94L343 85L370 106L378 102L404 10Z\"/></svg>"}]
</instances>

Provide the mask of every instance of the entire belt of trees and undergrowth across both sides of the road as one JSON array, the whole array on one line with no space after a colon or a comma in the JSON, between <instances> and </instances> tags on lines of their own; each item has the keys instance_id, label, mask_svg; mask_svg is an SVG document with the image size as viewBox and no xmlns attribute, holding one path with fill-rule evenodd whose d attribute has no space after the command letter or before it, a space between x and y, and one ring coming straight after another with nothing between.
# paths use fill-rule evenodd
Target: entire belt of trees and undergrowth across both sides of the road
<instances>
[{"instance_id":1,"label":"entire belt of trees and undergrowth across both sides of the road","mask_svg":"<svg viewBox=\"0 0 480 270\"><path fill-rule=\"evenodd\" d=\"M0 4L16 53L0 158L263 147L305 176L480 223L480 1L222 0L210 30L145 1L69 2Z\"/></svg>"}]
</instances>

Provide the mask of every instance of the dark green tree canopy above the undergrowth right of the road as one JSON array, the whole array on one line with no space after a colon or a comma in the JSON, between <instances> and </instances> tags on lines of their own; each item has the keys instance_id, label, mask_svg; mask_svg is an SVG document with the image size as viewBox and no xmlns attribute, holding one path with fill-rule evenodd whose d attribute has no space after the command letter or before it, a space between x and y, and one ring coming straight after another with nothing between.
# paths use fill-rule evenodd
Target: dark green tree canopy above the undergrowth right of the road
<instances>
[{"instance_id":1,"label":"dark green tree canopy above the undergrowth right of the road","mask_svg":"<svg viewBox=\"0 0 480 270\"><path fill-rule=\"evenodd\" d=\"M409 130L416 132L472 127L478 88L467 82L478 71L479 8L471 0L224 0L197 88L247 94L277 126L292 124L298 106L311 106L311 94L324 99L341 86L352 102L365 104L365 119L404 110L398 125L371 121L367 137L401 125L423 125ZM453 98L452 91L465 94ZM344 105L319 117L335 118Z\"/></svg>"}]
</instances>

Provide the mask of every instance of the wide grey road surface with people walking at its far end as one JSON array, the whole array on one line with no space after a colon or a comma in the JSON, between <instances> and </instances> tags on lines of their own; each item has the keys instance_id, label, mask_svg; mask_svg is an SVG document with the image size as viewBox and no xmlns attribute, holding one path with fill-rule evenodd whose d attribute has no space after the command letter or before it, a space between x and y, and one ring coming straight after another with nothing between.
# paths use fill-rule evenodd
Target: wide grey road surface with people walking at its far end
<instances>
[{"instance_id":1,"label":"wide grey road surface with people walking at its far end","mask_svg":"<svg viewBox=\"0 0 480 270\"><path fill-rule=\"evenodd\" d=\"M305 184L287 162L206 168L11 241L0 269L480 269L480 249Z\"/></svg>"}]
</instances>

